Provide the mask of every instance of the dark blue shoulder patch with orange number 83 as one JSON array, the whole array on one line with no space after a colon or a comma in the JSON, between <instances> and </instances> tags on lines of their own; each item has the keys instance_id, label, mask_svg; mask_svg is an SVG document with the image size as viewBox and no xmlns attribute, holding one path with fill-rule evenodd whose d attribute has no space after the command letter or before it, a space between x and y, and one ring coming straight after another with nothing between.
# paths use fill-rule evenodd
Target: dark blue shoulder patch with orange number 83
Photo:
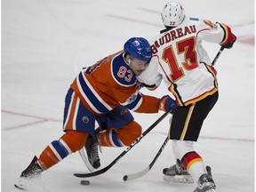
<instances>
[{"instance_id":1,"label":"dark blue shoulder patch with orange number 83","mask_svg":"<svg viewBox=\"0 0 256 192\"><path fill-rule=\"evenodd\" d=\"M112 60L111 72L117 84L123 86L136 84L136 76L133 74L132 69L124 62L123 53L116 55Z\"/></svg>"}]
</instances>

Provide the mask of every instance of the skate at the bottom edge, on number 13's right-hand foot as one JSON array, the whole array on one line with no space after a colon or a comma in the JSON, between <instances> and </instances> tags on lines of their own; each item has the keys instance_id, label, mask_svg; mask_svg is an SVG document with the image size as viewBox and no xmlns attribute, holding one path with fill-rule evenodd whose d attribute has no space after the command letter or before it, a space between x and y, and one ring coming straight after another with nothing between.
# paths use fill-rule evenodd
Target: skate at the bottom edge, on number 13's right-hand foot
<instances>
[{"instance_id":1,"label":"skate at the bottom edge, on number 13's right-hand foot","mask_svg":"<svg viewBox=\"0 0 256 192\"><path fill-rule=\"evenodd\" d=\"M198 180L198 186L194 192L215 192L215 183L212 180L212 176L209 173L201 175Z\"/></svg>"}]
</instances>

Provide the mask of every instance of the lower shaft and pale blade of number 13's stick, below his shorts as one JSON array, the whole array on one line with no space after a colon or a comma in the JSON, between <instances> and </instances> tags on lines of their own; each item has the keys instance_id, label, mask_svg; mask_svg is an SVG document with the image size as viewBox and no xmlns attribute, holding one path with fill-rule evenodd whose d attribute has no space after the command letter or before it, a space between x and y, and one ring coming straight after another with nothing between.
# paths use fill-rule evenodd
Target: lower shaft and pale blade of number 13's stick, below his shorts
<instances>
[{"instance_id":1,"label":"lower shaft and pale blade of number 13's stick, below his shorts","mask_svg":"<svg viewBox=\"0 0 256 192\"><path fill-rule=\"evenodd\" d=\"M166 137L166 139L164 140L164 143L163 145L161 146L161 148L158 150L155 158L153 159L153 161L142 171L140 172L135 172L135 173L132 173L132 174L127 174L127 175L124 175L123 177L123 180L135 180L135 179L138 179L140 177L143 177L145 174L147 174L151 168L153 167L153 165L156 163L156 160L157 158L161 155L162 151L164 150L164 147L166 146L166 144L168 143L169 141L169 138Z\"/></svg>"}]
</instances>

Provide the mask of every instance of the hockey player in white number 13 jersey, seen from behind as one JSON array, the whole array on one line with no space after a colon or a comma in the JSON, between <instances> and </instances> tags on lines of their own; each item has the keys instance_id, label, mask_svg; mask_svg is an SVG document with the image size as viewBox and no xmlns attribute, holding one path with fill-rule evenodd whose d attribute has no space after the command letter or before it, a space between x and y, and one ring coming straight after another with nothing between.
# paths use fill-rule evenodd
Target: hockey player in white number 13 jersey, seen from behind
<instances>
[{"instance_id":1,"label":"hockey player in white number 13 jersey, seen from behind","mask_svg":"<svg viewBox=\"0 0 256 192\"><path fill-rule=\"evenodd\" d=\"M236 36L223 23L185 16L178 2L165 4L162 20L165 28L150 41L153 57L138 79L149 90L164 79L178 104L169 132L177 162L164 168L164 180L195 180L198 185L194 192L212 192L216 188L212 174L194 149L204 119L218 100L217 73L202 42L231 48Z\"/></svg>"}]
</instances>

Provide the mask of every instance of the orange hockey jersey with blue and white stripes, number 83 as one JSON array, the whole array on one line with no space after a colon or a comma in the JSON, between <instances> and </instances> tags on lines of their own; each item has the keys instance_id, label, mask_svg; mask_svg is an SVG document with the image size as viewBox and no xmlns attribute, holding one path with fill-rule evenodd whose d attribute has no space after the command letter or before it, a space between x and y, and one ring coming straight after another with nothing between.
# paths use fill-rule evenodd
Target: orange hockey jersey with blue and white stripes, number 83
<instances>
[{"instance_id":1,"label":"orange hockey jersey with blue and white stripes, number 83","mask_svg":"<svg viewBox=\"0 0 256 192\"><path fill-rule=\"evenodd\" d=\"M139 113L158 112L159 99L139 92L140 84L122 51L83 68L71 88L84 106L99 116L120 105Z\"/></svg>"}]
</instances>

